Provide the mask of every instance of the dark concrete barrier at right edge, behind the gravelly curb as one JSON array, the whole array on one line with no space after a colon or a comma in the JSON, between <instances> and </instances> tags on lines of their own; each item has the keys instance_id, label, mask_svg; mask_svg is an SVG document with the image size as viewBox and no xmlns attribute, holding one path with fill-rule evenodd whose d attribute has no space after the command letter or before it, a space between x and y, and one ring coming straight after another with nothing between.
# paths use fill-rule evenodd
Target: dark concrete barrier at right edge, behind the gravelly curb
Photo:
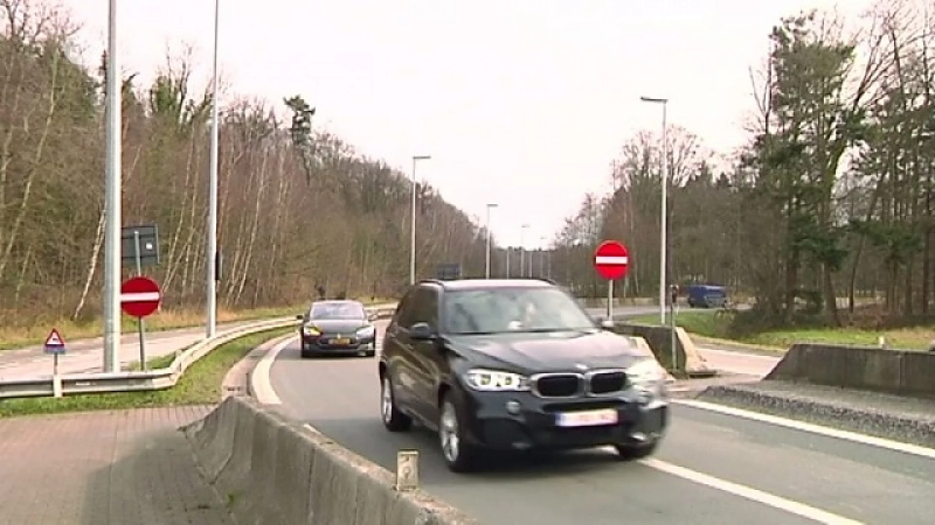
<instances>
[{"instance_id":1,"label":"dark concrete barrier at right edge, behind the gravelly curb","mask_svg":"<svg viewBox=\"0 0 935 525\"><path fill-rule=\"evenodd\" d=\"M765 379L901 395L935 395L935 354L798 343L789 348Z\"/></svg>"}]
</instances>

